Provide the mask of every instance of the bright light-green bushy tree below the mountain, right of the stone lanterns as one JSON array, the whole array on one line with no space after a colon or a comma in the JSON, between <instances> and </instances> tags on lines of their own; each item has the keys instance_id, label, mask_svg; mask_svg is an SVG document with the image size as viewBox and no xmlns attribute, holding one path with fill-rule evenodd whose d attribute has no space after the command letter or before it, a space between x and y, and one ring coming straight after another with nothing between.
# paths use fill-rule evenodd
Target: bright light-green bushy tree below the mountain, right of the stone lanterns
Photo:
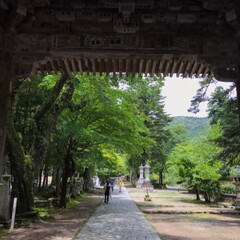
<instances>
[{"instance_id":1,"label":"bright light-green bushy tree below the mountain, right of the stone lanterns","mask_svg":"<svg viewBox=\"0 0 240 240\"><path fill-rule=\"evenodd\" d=\"M168 158L168 172L178 173L188 188L203 193L206 201L217 201L220 194L223 164L217 155L221 149L213 142L220 130L219 125L212 126L206 136L176 145Z\"/></svg>"}]
</instances>

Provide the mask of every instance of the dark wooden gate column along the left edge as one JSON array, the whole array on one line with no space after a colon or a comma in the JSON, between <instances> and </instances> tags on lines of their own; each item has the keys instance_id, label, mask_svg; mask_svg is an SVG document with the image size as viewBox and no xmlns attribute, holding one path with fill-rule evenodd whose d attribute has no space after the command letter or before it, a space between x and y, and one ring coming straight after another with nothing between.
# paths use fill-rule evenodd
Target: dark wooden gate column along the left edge
<instances>
[{"instance_id":1,"label":"dark wooden gate column along the left edge","mask_svg":"<svg viewBox=\"0 0 240 240\"><path fill-rule=\"evenodd\" d=\"M8 34L0 33L0 174L2 174L3 169L7 119L12 92L12 46L12 37Z\"/></svg>"}]
</instances>

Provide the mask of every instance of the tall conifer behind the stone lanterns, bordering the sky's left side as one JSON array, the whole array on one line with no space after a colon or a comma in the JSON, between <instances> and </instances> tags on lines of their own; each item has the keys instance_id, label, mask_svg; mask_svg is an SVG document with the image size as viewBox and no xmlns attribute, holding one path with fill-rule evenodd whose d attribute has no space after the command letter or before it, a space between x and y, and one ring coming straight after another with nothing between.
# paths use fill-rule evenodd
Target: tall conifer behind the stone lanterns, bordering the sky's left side
<instances>
[{"instance_id":1,"label":"tall conifer behind the stone lanterns, bordering the sky's left side","mask_svg":"<svg viewBox=\"0 0 240 240\"><path fill-rule=\"evenodd\" d=\"M162 184L167 154L166 142L170 136L166 126L171 121L171 118L164 112L164 98L161 95L164 79L155 76L134 77L130 80L127 78L124 84L127 85L126 92L132 96L135 106L149 118L145 121L145 125L149 129L149 136L155 142L150 151L143 152L141 157L129 158L128 164L131 172L136 178L140 164L148 161L152 171L159 174L159 183Z\"/></svg>"}]
</instances>

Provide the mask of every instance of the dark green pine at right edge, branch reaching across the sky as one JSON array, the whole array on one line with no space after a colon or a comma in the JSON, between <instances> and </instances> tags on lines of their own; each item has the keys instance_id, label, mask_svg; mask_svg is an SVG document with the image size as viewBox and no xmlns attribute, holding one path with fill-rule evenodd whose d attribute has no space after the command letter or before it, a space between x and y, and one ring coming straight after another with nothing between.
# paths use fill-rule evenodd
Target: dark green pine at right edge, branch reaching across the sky
<instances>
[{"instance_id":1,"label":"dark green pine at right edge, branch reaching across the sky","mask_svg":"<svg viewBox=\"0 0 240 240\"><path fill-rule=\"evenodd\" d=\"M218 122L222 126L222 134L215 139L215 142L222 148L219 158L225 163L225 173L229 174L230 166L237 165L240 162L239 110L237 108L237 99L231 94L236 86L233 84L226 90L217 87L211 97L208 98L205 94L206 89L214 81L216 80L210 77L200 82L201 87L192 100L192 107L189 111L198 112L199 104L208 101L210 124Z\"/></svg>"}]
</instances>

